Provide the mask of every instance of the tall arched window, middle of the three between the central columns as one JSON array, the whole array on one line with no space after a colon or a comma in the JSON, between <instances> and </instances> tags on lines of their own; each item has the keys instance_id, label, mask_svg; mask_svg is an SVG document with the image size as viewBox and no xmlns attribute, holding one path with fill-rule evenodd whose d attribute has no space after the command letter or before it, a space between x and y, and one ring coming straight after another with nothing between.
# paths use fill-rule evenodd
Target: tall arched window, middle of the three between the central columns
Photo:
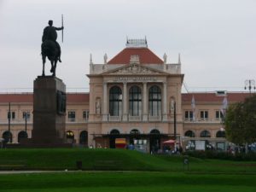
<instances>
[{"instance_id":1,"label":"tall arched window, middle of the three between the central columns","mask_svg":"<svg viewBox=\"0 0 256 192\"><path fill-rule=\"evenodd\" d=\"M129 113L131 116L142 113L142 91L138 86L132 86L129 90Z\"/></svg>"}]
</instances>

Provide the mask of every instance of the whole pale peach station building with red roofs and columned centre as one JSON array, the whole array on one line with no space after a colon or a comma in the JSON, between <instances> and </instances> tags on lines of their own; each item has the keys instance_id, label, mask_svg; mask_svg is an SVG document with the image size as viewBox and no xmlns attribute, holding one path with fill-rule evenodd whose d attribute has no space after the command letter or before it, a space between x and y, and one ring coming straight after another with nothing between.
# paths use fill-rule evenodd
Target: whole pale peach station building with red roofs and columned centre
<instances>
[{"instance_id":1,"label":"whole pale peach station building with red roofs and columned centre","mask_svg":"<svg viewBox=\"0 0 256 192\"><path fill-rule=\"evenodd\" d=\"M90 93L67 93L67 142L94 148L129 146L143 152L165 147L217 148L229 143L223 113L245 93L182 93L181 61L167 63L146 39L128 39L104 63L90 60ZM10 143L32 137L32 93L0 94L0 137ZM224 108L225 104L225 108ZM173 145L165 146L166 141Z\"/></svg>"}]
</instances>

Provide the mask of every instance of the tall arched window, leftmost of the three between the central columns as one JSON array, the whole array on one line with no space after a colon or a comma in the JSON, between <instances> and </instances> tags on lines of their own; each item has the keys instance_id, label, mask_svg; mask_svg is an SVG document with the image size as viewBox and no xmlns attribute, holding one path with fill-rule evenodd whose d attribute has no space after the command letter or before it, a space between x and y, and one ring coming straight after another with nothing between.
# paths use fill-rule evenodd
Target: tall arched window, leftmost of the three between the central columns
<instances>
[{"instance_id":1,"label":"tall arched window, leftmost of the three between the central columns","mask_svg":"<svg viewBox=\"0 0 256 192\"><path fill-rule=\"evenodd\" d=\"M118 86L113 86L109 90L109 114L120 116L122 113L122 90Z\"/></svg>"}]
</instances>

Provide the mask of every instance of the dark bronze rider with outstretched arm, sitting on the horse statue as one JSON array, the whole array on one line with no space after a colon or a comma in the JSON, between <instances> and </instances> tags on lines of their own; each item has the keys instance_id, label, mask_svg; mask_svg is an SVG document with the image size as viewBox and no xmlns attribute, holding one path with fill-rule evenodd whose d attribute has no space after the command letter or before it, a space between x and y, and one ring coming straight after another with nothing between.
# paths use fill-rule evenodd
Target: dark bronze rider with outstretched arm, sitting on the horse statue
<instances>
[{"instance_id":1,"label":"dark bronze rider with outstretched arm, sitting on the horse statue","mask_svg":"<svg viewBox=\"0 0 256 192\"><path fill-rule=\"evenodd\" d=\"M56 42L56 39L57 39L56 31L63 30L64 27L63 26L61 26L61 27L52 26L52 24L53 24L52 20L49 20L48 24L49 24L49 26L46 26L44 28L42 42L44 43L45 40L50 40L50 41L55 42L57 49L59 49L58 60L61 62L61 46L60 46L60 44L58 44L58 42Z\"/></svg>"}]
</instances>

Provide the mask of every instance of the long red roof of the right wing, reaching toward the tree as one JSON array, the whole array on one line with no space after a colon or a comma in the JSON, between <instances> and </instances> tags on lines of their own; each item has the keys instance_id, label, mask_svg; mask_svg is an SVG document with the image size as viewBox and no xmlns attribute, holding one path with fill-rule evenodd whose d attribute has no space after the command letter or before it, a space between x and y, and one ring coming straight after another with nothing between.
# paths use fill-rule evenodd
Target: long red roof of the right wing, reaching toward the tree
<instances>
[{"instance_id":1,"label":"long red roof of the right wing, reaching toward the tree","mask_svg":"<svg viewBox=\"0 0 256 192\"><path fill-rule=\"evenodd\" d=\"M223 102L224 96L217 95L216 93L183 93L182 102L191 102L192 97L195 98L196 102ZM242 92L228 92L227 93L228 102L243 102L249 93Z\"/></svg>"}]
</instances>

